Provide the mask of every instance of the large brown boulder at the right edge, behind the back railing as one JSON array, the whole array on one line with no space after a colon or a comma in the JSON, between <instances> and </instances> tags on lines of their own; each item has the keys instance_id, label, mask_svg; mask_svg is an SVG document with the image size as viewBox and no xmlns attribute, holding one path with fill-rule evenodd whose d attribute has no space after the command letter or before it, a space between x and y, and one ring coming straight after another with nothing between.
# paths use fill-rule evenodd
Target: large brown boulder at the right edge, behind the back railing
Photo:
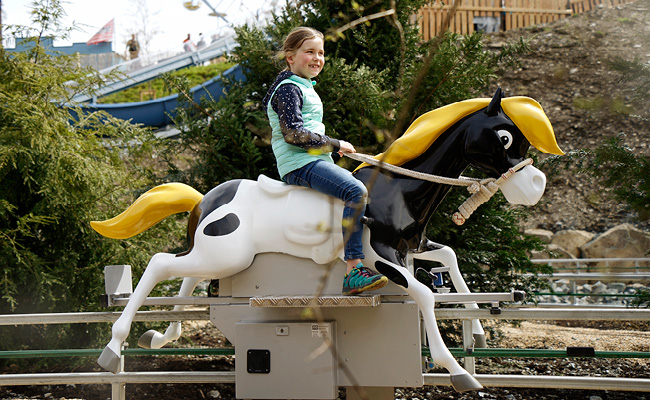
<instances>
[{"instance_id":1,"label":"large brown boulder at the right edge, behind the back railing","mask_svg":"<svg viewBox=\"0 0 650 400\"><path fill-rule=\"evenodd\" d=\"M581 247L585 258L641 258L650 249L650 234L630 224L621 224ZM605 267L599 263L597 267ZM617 268L632 268L632 262L617 263Z\"/></svg>"}]
</instances>

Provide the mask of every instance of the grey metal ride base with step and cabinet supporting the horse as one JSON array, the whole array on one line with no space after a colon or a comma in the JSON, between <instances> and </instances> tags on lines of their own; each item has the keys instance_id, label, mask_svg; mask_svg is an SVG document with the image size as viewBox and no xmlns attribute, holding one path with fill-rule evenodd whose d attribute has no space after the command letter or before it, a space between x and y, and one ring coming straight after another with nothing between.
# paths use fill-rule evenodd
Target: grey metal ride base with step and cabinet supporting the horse
<instances>
[{"instance_id":1,"label":"grey metal ride base with step and cabinet supporting the horse","mask_svg":"<svg viewBox=\"0 0 650 400\"><path fill-rule=\"evenodd\" d=\"M348 393L362 388L383 400L393 398L395 387L424 385L424 336L415 302L392 282L369 294L342 296L345 264L335 263L329 274L327 269L311 260L260 254L246 270L221 279L217 297L150 299L145 304L209 305L210 321L235 346L237 398L336 399L343 386ZM114 293L107 296L108 304L126 304L129 275L125 268L107 269L107 293ZM321 296L314 299L326 276ZM437 301L453 303L515 297L436 295ZM315 306L320 320L311 309Z\"/></svg>"}]
</instances>

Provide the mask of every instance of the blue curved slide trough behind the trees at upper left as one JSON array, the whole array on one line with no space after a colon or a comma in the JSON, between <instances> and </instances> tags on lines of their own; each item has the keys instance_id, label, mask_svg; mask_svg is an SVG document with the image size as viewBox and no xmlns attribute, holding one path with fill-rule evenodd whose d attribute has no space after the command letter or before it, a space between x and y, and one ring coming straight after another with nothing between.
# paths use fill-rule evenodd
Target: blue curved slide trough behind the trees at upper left
<instances>
[{"instance_id":1,"label":"blue curved slide trough behind the trees at upper left","mask_svg":"<svg viewBox=\"0 0 650 400\"><path fill-rule=\"evenodd\" d=\"M217 76L190 90L192 98L197 103L201 97L220 99L224 95L223 78L229 80L243 81L244 73L239 65L236 65L220 76ZM160 99L141 101L137 103L116 103L116 104L88 104L81 103L85 112L105 111L113 117L131 120L134 124L142 124L148 127L162 128L172 124L169 117L173 115L178 107L178 94L162 97Z\"/></svg>"}]
</instances>

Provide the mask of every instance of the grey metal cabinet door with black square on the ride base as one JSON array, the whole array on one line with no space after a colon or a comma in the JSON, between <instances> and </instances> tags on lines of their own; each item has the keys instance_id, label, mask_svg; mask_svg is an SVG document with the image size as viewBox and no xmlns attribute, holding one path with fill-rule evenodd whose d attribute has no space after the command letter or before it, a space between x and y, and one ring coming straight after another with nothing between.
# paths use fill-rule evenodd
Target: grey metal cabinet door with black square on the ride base
<instances>
[{"instance_id":1,"label":"grey metal cabinet door with black square on the ride base","mask_svg":"<svg viewBox=\"0 0 650 400\"><path fill-rule=\"evenodd\" d=\"M240 322L235 348L237 398L335 399L336 361L324 337L336 343L333 322ZM247 356L268 355L264 368ZM270 368L269 368L270 366Z\"/></svg>"}]
</instances>

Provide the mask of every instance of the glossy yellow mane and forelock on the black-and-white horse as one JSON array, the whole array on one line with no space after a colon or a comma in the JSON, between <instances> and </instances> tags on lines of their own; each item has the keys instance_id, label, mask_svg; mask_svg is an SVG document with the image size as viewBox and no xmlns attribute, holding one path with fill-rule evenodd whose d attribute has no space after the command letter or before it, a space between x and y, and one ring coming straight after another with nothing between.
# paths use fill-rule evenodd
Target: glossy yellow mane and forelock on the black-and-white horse
<instances>
[{"instance_id":1,"label":"glossy yellow mane and forelock on the black-and-white horse","mask_svg":"<svg viewBox=\"0 0 650 400\"><path fill-rule=\"evenodd\" d=\"M485 108L491 99L479 98L452 103L421 115L375 159L393 165L402 165L424 153L443 132L460 119ZM501 99L501 107L526 139L539 151L564 154L555 140L555 133L542 106L530 97L516 96ZM362 164L359 168L368 166ZM358 168L357 168L358 169Z\"/></svg>"}]
</instances>

